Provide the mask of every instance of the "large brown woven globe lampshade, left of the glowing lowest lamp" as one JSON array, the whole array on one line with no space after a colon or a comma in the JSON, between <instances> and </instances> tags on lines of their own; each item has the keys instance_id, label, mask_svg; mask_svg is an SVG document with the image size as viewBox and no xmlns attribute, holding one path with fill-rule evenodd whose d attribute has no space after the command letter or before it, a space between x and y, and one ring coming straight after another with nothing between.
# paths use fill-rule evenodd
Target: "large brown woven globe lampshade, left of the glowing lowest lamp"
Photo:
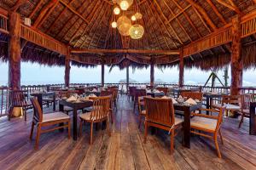
<instances>
[{"instance_id":1,"label":"large brown woven globe lampshade, left of the glowing lowest lamp","mask_svg":"<svg viewBox=\"0 0 256 170\"><path fill-rule=\"evenodd\" d=\"M117 20L117 27L122 36L130 36L129 29L131 28L131 20L129 20L126 16L119 17Z\"/></svg>"}]
</instances>

